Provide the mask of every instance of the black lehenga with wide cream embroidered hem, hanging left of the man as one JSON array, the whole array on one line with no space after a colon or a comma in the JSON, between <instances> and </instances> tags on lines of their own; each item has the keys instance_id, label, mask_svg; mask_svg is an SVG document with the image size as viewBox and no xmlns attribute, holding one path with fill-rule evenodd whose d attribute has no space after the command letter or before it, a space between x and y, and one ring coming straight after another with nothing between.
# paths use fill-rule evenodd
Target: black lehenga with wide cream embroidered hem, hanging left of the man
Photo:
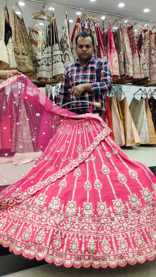
<instances>
[{"instance_id":1,"label":"black lehenga with wide cream embroidered hem, hanging left of the man","mask_svg":"<svg viewBox=\"0 0 156 277\"><path fill-rule=\"evenodd\" d=\"M43 83L57 84L61 82L65 66L58 38L56 17L52 18L48 27L47 43L37 68L37 77Z\"/></svg>"}]
</instances>

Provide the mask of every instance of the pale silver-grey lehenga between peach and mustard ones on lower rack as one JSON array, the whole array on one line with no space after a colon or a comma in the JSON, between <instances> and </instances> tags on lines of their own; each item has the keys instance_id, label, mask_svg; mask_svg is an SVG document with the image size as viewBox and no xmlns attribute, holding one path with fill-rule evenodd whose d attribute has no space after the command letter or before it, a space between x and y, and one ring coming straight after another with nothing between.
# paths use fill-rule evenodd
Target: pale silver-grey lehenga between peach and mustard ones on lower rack
<instances>
[{"instance_id":1,"label":"pale silver-grey lehenga between peach and mustard ones on lower rack","mask_svg":"<svg viewBox=\"0 0 156 277\"><path fill-rule=\"evenodd\" d=\"M136 130L140 136L142 144L149 143L148 124L145 110L145 98L137 100L135 97L129 105L129 110L133 118Z\"/></svg>"}]
</instances>

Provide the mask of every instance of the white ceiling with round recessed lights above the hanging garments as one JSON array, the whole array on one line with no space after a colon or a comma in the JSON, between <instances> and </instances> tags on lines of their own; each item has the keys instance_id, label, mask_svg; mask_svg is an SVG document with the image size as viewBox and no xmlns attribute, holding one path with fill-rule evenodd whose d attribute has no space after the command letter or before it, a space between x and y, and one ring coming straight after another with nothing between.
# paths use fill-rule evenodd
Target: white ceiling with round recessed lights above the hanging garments
<instances>
[{"instance_id":1,"label":"white ceiling with round recessed lights above the hanging garments","mask_svg":"<svg viewBox=\"0 0 156 277\"><path fill-rule=\"evenodd\" d=\"M26 28L34 25L35 23L35 19L32 19L32 15L31 13L36 13L39 12L43 6L43 3L40 3L40 0L38 0L38 2L35 1L28 1L28 0L20 0L23 1L25 3L25 6L20 7L21 10L23 11L23 20L25 22L25 26ZM0 17L2 15L3 12L3 8L4 8L4 2L5 0L0 0ZM51 1L47 1L49 3L51 3ZM10 15L10 21L11 21L11 11L12 11L12 7L15 5L16 0L6 0L6 4L7 4L7 8L8 8L8 12ZM61 32L62 32L62 26L64 25L64 20L65 20L65 16L66 16L66 10L67 10L67 15L68 15L68 19L72 19L73 23L70 23L70 34L72 34L73 31L73 27L74 24L77 20L77 15L76 12L79 10L79 8L83 8L83 9L87 9L90 10L86 11L86 14L93 14L92 11L94 11L94 15L97 18L98 15L100 15L100 17L102 15L105 15L105 13L112 13L115 15L121 15L126 18L132 17L132 18L137 18L137 19L143 19L145 20L145 22L141 22L139 20L137 20L139 25L143 25L144 23L148 23L148 21L153 21L156 22L156 5L155 5L155 0L96 0L95 2L91 2L90 0L78 0L78 1L74 1L74 0L57 0L55 1L56 4L61 4L61 5L67 5L66 7L61 7L61 6L57 6L57 5L52 5L55 8L54 11L54 15L56 16L56 25L57 25L57 29L58 29L58 33L59 33L59 38L61 36ZM124 3L125 6L123 8L119 8L118 4L119 3ZM73 9L73 8L69 8L70 7L76 7L77 9ZM49 8L50 5L47 4L47 15L50 15L50 11ZM145 13L143 12L143 9L148 8L150 11ZM16 9L18 10L18 7L16 7ZM80 10L79 10L80 11ZM95 12L97 11L97 13ZM83 11L81 11L83 13ZM19 15L20 16L20 15ZM80 15L81 18L82 15ZM107 15L107 18L109 20L111 20L111 23L114 22L115 18L119 17L112 17L110 15ZM129 21L133 24L134 22L136 22L136 20L132 20L129 19ZM42 20L37 20L37 24L39 25L39 23L42 22L44 23L44 21ZM152 27L156 24L153 23L148 23L149 27L152 29ZM48 25L48 23L47 23ZM45 27L44 25L39 25L39 27L44 31ZM36 29L37 30L37 29ZM156 30L153 30L153 32Z\"/></svg>"}]
</instances>

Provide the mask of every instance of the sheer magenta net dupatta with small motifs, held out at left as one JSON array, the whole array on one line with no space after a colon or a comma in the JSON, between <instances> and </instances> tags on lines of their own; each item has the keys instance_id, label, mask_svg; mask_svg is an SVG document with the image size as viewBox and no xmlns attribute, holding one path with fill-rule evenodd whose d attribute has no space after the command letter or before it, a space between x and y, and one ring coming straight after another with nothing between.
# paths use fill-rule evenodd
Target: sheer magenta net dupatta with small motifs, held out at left
<instances>
[{"instance_id":1,"label":"sheer magenta net dupatta with small motifs, held out at left","mask_svg":"<svg viewBox=\"0 0 156 277\"><path fill-rule=\"evenodd\" d=\"M44 151L62 117L93 116L78 116L60 108L25 75L15 75L0 84L0 103L0 153L3 155Z\"/></svg>"}]
</instances>

